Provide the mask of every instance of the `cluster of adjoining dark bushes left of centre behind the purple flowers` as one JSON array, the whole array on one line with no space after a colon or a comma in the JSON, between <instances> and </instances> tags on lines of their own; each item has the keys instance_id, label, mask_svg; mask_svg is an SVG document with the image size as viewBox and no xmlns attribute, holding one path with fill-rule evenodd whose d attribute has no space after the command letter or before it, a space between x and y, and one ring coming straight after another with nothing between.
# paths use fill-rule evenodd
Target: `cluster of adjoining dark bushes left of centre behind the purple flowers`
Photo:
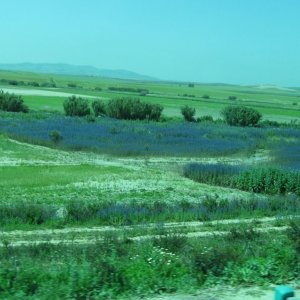
<instances>
[{"instance_id":1,"label":"cluster of adjoining dark bushes left of centre behind the purple flowers","mask_svg":"<svg viewBox=\"0 0 300 300\"><path fill-rule=\"evenodd\" d=\"M91 114L89 102L85 99L72 96L64 102L64 111L67 116L87 116ZM149 104L138 98L112 99L108 103L101 100L92 102L94 115L106 115L115 119L124 120L154 120L161 117L163 107L157 104Z\"/></svg>"}]
</instances>

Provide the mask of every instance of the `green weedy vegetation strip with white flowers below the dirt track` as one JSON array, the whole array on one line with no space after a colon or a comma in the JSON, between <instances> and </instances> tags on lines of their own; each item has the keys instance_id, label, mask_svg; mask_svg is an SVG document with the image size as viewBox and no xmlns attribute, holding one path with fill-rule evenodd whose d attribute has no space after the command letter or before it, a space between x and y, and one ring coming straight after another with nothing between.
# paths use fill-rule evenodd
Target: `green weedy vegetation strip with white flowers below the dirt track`
<instances>
[{"instance_id":1,"label":"green weedy vegetation strip with white flowers below the dirt track","mask_svg":"<svg viewBox=\"0 0 300 300\"><path fill-rule=\"evenodd\" d=\"M14 248L6 243L0 249L0 294L117 299L191 291L216 282L280 284L298 279L299 231L293 221L279 235L239 226L213 239L170 234L132 242L126 235L110 235L93 245Z\"/></svg>"}]
</instances>

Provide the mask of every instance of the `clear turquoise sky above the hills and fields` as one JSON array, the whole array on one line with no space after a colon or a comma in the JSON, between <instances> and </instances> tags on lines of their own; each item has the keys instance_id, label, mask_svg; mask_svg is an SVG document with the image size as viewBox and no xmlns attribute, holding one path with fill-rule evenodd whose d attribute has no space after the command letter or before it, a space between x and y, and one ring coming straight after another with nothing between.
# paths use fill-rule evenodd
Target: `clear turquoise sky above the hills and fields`
<instances>
[{"instance_id":1,"label":"clear turquoise sky above the hills and fields","mask_svg":"<svg viewBox=\"0 0 300 300\"><path fill-rule=\"evenodd\" d=\"M0 0L0 63L300 86L299 0Z\"/></svg>"}]
</instances>

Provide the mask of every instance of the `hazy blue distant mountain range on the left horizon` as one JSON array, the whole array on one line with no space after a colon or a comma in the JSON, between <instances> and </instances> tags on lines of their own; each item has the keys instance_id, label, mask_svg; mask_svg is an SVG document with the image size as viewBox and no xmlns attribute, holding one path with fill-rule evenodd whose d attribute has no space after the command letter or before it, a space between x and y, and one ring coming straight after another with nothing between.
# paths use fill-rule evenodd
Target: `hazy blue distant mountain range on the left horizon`
<instances>
[{"instance_id":1,"label":"hazy blue distant mountain range on the left horizon","mask_svg":"<svg viewBox=\"0 0 300 300\"><path fill-rule=\"evenodd\" d=\"M0 64L1 70L8 71L25 71L33 73L47 73L47 74L62 74L62 75L82 75L82 76L100 76L118 79L131 79L142 81L157 81L157 78L142 75L128 70L109 70L98 69L93 66L76 66L70 64Z\"/></svg>"}]
</instances>

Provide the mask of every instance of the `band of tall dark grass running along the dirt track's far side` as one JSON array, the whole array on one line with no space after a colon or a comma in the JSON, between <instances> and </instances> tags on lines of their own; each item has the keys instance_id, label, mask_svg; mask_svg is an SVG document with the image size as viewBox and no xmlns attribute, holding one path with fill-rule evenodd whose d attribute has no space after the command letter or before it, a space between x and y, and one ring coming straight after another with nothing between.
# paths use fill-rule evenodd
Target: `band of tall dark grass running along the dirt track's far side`
<instances>
[{"instance_id":1,"label":"band of tall dark grass running along the dirt track's far side","mask_svg":"<svg viewBox=\"0 0 300 300\"><path fill-rule=\"evenodd\" d=\"M251 199L206 199L198 203L186 201L176 205L165 201L101 203L69 201L65 206L18 202L0 204L0 225L13 228L22 225L134 225L148 223L208 221L254 216L281 216L300 212L297 197L274 196Z\"/></svg>"}]
</instances>

